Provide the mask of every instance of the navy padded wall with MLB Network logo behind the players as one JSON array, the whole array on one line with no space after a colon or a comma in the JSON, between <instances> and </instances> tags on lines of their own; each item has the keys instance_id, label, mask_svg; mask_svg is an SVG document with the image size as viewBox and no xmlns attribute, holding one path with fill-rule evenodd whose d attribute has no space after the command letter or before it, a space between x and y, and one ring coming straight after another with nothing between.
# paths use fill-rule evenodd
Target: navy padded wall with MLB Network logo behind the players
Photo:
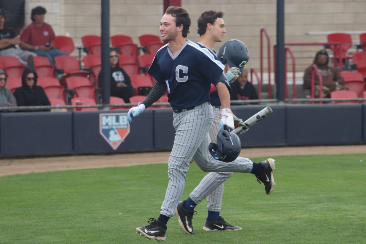
<instances>
[{"instance_id":1,"label":"navy padded wall with MLB Network logo behind the players","mask_svg":"<svg viewBox=\"0 0 366 244\"><path fill-rule=\"evenodd\" d=\"M273 114L240 136L242 147L366 144L365 104L270 105ZM265 106L233 106L249 118ZM0 113L0 157L171 150L171 109Z\"/></svg>"}]
</instances>

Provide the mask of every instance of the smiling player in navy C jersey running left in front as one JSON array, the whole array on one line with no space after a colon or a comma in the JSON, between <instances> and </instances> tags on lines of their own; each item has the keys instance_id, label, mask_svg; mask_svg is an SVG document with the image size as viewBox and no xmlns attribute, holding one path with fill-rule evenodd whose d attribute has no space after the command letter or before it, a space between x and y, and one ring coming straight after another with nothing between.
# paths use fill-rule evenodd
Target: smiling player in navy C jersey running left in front
<instances>
[{"instance_id":1,"label":"smiling player in navy C jersey running left in front","mask_svg":"<svg viewBox=\"0 0 366 244\"><path fill-rule=\"evenodd\" d=\"M168 44L158 50L148 71L157 82L146 99L127 113L128 121L132 123L132 117L140 115L168 89L168 102L173 110L176 131L168 160L169 183L158 219L149 218L149 225L136 228L137 233L150 240L165 240L167 222L175 214L182 197L191 158L205 172L263 175L268 178L268 181L264 180L268 191L273 190L275 184L273 160L257 164L248 158L238 157L232 162L223 162L209 152L211 140L208 132L214 118L209 102L210 84L216 86L223 108L220 123L224 127L234 128L229 85L223 74L224 65L207 48L186 39L190 24L186 10L174 6L167 8L160 21L160 33L162 40Z\"/></svg>"}]
</instances>

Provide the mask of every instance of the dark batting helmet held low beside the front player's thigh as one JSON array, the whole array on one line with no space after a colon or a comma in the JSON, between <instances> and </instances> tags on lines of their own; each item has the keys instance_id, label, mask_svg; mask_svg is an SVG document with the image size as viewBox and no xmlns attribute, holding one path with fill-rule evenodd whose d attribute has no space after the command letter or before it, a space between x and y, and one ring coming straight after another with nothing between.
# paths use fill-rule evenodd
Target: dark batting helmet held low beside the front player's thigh
<instances>
[{"instance_id":1,"label":"dark batting helmet held low beside the front player's thigh","mask_svg":"<svg viewBox=\"0 0 366 244\"><path fill-rule=\"evenodd\" d=\"M212 157L223 162L232 162L240 154L242 143L239 136L225 129L217 134L217 144L210 143L208 147Z\"/></svg>"}]
</instances>

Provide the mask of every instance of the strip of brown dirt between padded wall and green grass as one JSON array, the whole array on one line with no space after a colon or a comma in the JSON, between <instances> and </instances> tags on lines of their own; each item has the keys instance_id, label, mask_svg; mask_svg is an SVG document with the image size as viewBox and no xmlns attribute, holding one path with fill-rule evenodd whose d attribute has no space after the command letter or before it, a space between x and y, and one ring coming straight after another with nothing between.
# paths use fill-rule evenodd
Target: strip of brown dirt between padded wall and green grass
<instances>
[{"instance_id":1,"label":"strip of brown dirt between padded wall and green grass","mask_svg":"<svg viewBox=\"0 0 366 244\"><path fill-rule=\"evenodd\" d=\"M20 159L1 159L0 176L46 172L66 169L89 169L120 167L144 164L161 164L168 161L170 152L125 153L111 155L72 155L60 157L39 157ZM243 148L240 156L275 157L280 155L309 154L353 154L366 153L366 145L354 146L314 146L314 147L270 147Z\"/></svg>"}]
</instances>

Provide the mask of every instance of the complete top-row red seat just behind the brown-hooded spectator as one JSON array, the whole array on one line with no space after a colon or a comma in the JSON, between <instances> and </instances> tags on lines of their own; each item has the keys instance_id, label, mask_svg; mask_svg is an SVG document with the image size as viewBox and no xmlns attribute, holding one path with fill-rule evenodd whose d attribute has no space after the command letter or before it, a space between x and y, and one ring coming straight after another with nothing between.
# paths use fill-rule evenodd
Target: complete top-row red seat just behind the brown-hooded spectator
<instances>
[{"instance_id":1,"label":"complete top-row red seat just behind the brown-hooded spectator","mask_svg":"<svg viewBox=\"0 0 366 244\"><path fill-rule=\"evenodd\" d=\"M332 33L327 35L328 42L340 42L341 43L341 55L342 63L344 60L352 58L352 56L347 55L347 50L350 49L352 44L352 37L347 33ZM339 47L335 45L330 45L330 49L333 51L333 59L339 60Z\"/></svg>"}]
</instances>

